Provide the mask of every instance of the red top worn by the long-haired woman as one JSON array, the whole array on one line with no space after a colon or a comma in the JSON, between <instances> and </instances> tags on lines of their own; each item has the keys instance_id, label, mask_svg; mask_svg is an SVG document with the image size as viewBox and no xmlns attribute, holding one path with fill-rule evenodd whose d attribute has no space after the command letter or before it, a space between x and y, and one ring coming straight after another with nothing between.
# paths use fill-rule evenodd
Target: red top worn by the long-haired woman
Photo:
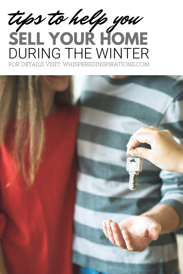
<instances>
[{"instance_id":1,"label":"red top worn by the long-haired woman","mask_svg":"<svg viewBox=\"0 0 183 274\"><path fill-rule=\"evenodd\" d=\"M78 109L45 118L45 148L35 181L14 178L12 126L1 146L0 236L9 274L71 274Z\"/></svg>"}]
</instances>

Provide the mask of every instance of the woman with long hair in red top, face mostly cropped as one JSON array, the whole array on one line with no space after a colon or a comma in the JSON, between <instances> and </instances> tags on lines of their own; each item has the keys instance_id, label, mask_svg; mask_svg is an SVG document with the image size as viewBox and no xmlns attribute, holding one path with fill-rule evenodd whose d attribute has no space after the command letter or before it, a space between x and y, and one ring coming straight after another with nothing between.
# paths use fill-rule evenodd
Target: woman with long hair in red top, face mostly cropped
<instances>
[{"instance_id":1,"label":"woman with long hair in red top, face mostly cropped","mask_svg":"<svg viewBox=\"0 0 183 274\"><path fill-rule=\"evenodd\" d=\"M0 78L2 273L73 273L79 110L66 104L58 107L63 100L55 98L55 91L67 90L60 95L69 95L69 78Z\"/></svg>"}]
</instances>

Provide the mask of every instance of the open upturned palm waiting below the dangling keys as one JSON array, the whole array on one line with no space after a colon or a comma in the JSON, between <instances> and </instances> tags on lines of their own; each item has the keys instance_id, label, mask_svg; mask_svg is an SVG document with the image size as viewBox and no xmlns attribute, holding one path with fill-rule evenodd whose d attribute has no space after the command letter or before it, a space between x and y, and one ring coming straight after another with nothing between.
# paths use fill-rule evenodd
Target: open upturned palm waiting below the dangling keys
<instances>
[{"instance_id":1,"label":"open upturned palm waiting below the dangling keys","mask_svg":"<svg viewBox=\"0 0 183 274\"><path fill-rule=\"evenodd\" d=\"M103 221L103 232L112 244L129 251L143 251L157 240L161 225L148 216L130 216L119 223Z\"/></svg>"}]
</instances>

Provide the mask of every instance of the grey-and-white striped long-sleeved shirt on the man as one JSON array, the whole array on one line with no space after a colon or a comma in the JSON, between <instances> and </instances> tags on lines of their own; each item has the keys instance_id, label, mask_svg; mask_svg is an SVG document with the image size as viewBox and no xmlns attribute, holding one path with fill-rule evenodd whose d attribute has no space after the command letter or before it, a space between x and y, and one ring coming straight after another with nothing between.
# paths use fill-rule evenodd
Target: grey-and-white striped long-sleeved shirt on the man
<instances>
[{"instance_id":1,"label":"grey-and-white striped long-sleeved shirt on the man","mask_svg":"<svg viewBox=\"0 0 183 274\"><path fill-rule=\"evenodd\" d=\"M161 170L143 159L138 188L131 191L126 171L126 144L142 126L169 129L183 143L181 79L86 76L80 101L74 263L111 274L174 273L178 270L174 232L160 235L143 252L129 252L111 244L102 221L119 223L159 203L172 206L183 225L182 173Z\"/></svg>"}]
</instances>

